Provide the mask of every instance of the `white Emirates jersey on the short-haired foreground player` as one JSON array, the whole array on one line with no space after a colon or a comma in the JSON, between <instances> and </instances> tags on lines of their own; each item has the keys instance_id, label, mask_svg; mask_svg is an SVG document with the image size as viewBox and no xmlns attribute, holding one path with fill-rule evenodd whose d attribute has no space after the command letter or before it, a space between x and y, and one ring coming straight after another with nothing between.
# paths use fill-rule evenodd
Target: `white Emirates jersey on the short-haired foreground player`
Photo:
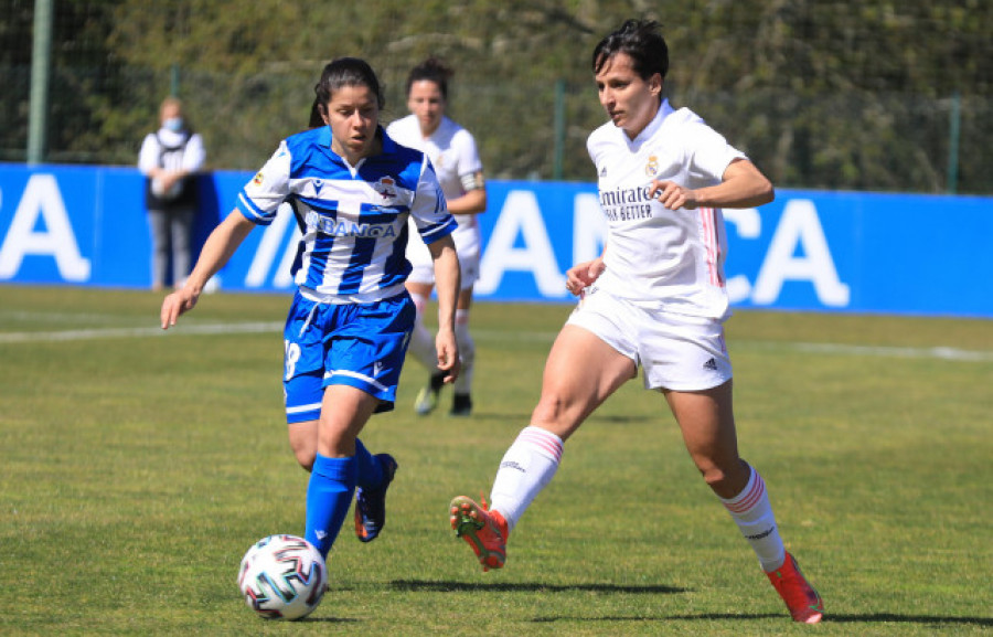
<instances>
[{"instance_id":1,"label":"white Emirates jersey on the short-haired foreground player","mask_svg":"<svg viewBox=\"0 0 993 637\"><path fill-rule=\"evenodd\" d=\"M597 287L644 307L724 318L727 242L720 210L666 210L648 193L652 179L690 189L715 185L733 160L746 156L669 100L636 139L607 123L589 136L587 150L609 229L607 269Z\"/></svg>"}]
</instances>

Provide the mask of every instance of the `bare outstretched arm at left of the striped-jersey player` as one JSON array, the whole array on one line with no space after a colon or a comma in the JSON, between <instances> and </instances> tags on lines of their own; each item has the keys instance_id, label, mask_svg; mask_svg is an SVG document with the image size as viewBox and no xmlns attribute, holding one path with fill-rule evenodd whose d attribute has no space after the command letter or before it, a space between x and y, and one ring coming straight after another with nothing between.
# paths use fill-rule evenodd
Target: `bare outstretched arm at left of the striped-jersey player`
<instances>
[{"instance_id":1,"label":"bare outstretched arm at left of the striped-jersey player","mask_svg":"<svg viewBox=\"0 0 993 637\"><path fill-rule=\"evenodd\" d=\"M231 256L254 227L254 223L235 210L214 229L206 243L203 244L196 266L186 278L186 283L162 301L159 319L163 330L174 326L180 315L193 309L196 299L203 291L203 286L217 274L217 270L224 267L224 264L231 259Z\"/></svg>"}]
</instances>

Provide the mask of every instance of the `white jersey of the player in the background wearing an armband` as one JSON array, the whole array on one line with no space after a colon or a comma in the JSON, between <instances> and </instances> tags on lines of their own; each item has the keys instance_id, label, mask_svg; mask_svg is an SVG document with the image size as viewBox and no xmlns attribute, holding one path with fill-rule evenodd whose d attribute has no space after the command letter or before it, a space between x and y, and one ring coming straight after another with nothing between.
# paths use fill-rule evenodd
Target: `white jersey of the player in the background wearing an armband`
<instances>
[{"instance_id":1,"label":"white jersey of the player in the background wearing an armband","mask_svg":"<svg viewBox=\"0 0 993 637\"><path fill-rule=\"evenodd\" d=\"M458 199L466 194L462 177L482 170L482 161L472 134L448 117L442 117L437 130L427 138L420 134L420 123L415 115L393 121L386 131L398 144L416 148L428 156L446 199ZM459 224L452 234L456 248L459 252L478 251L480 235L476 215L460 214L456 219ZM412 248L416 246L412 245Z\"/></svg>"}]
</instances>

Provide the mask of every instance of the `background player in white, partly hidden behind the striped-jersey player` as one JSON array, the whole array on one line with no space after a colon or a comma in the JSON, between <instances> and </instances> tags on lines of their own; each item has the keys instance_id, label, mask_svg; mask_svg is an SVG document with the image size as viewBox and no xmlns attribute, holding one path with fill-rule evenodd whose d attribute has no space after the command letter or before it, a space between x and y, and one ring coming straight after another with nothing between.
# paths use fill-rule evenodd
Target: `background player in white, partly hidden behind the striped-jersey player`
<instances>
[{"instance_id":1,"label":"background player in white, partly hidden behind the striped-jersey player","mask_svg":"<svg viewBox=\"0 0 993 637\"><path fill-rule=\"evenodd\" d=\"M445 191L448 210L459 223L451 236L462 267L462 289L459 291L456 310L456 338L462 369L453 385L450 414L468 416L472 412L472 372L476 362L476 343L469 333L469 310L472 306L472 286L479 278L481 244L476 215L487 210L487 190L476 140L468 130L445 115L451 75L451 68L437 57L428 57L415 66L408 74L406 84L410 115L392 123L386 130L398 142L427 153L438 174L441 190ZM431 372L428 383L417 394L414 410L426 415L437 405L445 381L445 373L435 364L434 339L423 321L424 308L431 296L435 277L430 255L416 237L407 245L407 258L414 265L414 272L407 277L407 290L417 305L417 322L409 351Z\"/></svg>"}]
</instances>

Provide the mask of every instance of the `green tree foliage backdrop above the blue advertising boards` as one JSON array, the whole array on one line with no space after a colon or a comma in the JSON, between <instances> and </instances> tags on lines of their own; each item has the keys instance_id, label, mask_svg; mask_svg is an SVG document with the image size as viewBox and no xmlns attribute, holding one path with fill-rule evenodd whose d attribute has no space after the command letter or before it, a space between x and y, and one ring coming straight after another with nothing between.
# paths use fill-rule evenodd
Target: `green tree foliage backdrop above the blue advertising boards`
<instances>
[{"instance_id":1,"label":"green tree foliage backdrop above the blue advertising boards","mask_svg":"<svg viewBox=\"0 0 993 637\"><path fill-rule=\"evenodd\" d=\"M629 17L664 25L665 83L783 187L941 192L960 99L961 190L993 192L993 3L987 0L54 0L52 156L131 163L173 87L214 168L253 169L307 123L320 68L367 59L389 120L428 54L456 68L450 115L492 177L591 180L604 120L590 53ZM23 70L29 0L0 25L0 64ZM23 83L23 79L14 82ZM22 84L23 85L23 84ZM564 87L564 140L556 91ZM20 95L21 89L17 94ZM2 96L3 147L23 98ZM13 115L7 115L13 114ZM92 159L97 158L97 159Z\"/></svg>"}]
</instances>

